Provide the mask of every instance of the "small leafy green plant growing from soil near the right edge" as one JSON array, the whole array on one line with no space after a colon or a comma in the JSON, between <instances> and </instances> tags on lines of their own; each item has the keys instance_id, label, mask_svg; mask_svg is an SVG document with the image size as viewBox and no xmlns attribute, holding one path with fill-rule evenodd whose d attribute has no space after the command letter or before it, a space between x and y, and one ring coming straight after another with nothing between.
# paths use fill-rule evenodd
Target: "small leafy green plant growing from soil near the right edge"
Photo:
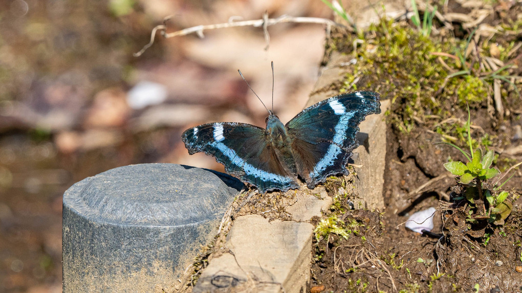
<instances>
[{"instance_id":1,"label":"small leafy green plant growing from soil near the right edge","mask_svg":"<svg viewBox=\"0 0 522 293\"><path fill-rule=\"evenodd\" d=\"M514 167L522 164L522 162L513 166L512 168L509 168L507 172L504 173L495 184L493 184L493 188L488 188L490 186L488 184L488 180L496 177L501 173L498 169L491 167L495 155L492 150L485 152L485 154L482 154L482 150L480 148L477 148L473 151L470 124L471 121L468 107L468 121L466 124L466 130L468 133L468 146L470 153L467 153L453 143L441 142L451 145L459 150L462 154L464 154L468 162L466 164L460 161L448 162L444 164L444 167L450 173L460 176L460 183L466 187L465 198L471 206L476 208L475 212L471 210L469 211L466 221L473 224L477 223L480 219L487 218L490 223L495 225L503 225L504 219L509 214L511 214L513 204L507 199L507 196L509 195L507 191L498 192L497 190L513 176L507 178L507 180L504 181L501 185L498 183L507 173L509 173ZM456 200L459 199L463 198L456 198ZM484 199L489 205L488 210L486 209Z\"/></svg>"}]
</instances>

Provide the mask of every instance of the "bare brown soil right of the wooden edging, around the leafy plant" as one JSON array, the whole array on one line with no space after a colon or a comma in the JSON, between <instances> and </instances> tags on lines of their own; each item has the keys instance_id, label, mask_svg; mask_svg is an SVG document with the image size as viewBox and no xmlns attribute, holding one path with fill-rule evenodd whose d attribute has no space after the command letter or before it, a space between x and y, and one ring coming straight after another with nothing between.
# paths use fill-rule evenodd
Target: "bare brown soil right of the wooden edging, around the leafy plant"
<instances>
[{"instance_id":1,"label":"bare brown soil right of the wooden edging, around the leafy plant","mask_svg":"<svg viewBox=\"0 0 522 293\"><path fill-rule=\"evenodd\" d=\"M445 12L469 14L472 10L452 3ZM520 13L520 7L511 7L503 10L501 16L491 14L487 19L494 26L509 17L516 19ZM453 24L454 30L450 34L466 38L466 30L459 23ZM497 38L496 42L506 40L513 41L512 36L505 35L504 39ZM515 40L520 42L520 34ZM340 46L336 44L334 47ZM346 54L353 54L350 46L342 50L346 50ZM522 50L519 48L515 53L515 56L518 55L518 63L520 54ZM520 67L515 68L513 74L519 76L519 73ZM392 78L392 83L398 79ZM385 84L380 86L386 88ZM373 84L373 87L378 85ZM518 89L521 89L520 85ZM392 98L393 91L389 92L388 98ZM442 91L444 94L447 93ZM472 137L480 139L484 133L489 133L492 138L489 149L499 155L496 159L497 167L502 166L502 162L513 165L513 162L521 161L520 154L512 156L503 152L521 143L519 139L514 139L522 114L520 96L506 93L504 96L507 96L503 102L509 115L499 116L498 113L488 112L492 102L482 101L470 106L470 119L475 126ZM434 98L446 99L440 93ZM408 100L403 102L408 103ZM443 167L449 157L464 160L464 156L449 145L436 144L444 141L444 138L433 131L436 123L426 123L420 113L420 119L416 120L410 131L398 127L399 124L393 120L394 114L400 116L398 113L404 113L404 103L394 103L392 114L388 116L383 194L385 210L347 209L340 213L339 218L345 223L355 219L360 225L359 230L347 240L331 234L327 239L315 243L310 291L521 292L520 172L515 172L515 176L503 187L515 196L514 199L518 198L505 224L495 226L482 222L482 226L474 225L468 229L464 207L460 210L455 208L455 198L463 192L463 187L457 183L458 178L449 175ZM458 105L456 97L453 101L449 97L448 102L441 106L441 113L452 113L452 119L461 120L464 125L467 118L465 104ZM331 187L331 192L335 194L337 188ZM421 235L405 228L404 223L409 215L428 207L436 208L431 234Z\"/></svg>"}]
</instances>

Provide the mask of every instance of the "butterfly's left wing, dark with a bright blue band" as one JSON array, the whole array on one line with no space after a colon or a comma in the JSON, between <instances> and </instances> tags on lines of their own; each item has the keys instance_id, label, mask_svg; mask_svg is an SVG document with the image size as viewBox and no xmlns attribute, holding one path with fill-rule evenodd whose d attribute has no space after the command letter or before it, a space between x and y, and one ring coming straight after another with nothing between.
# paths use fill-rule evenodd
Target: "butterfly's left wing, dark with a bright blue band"
<instances>
[{"instance_id":1,"label":"butterfly's left wing, dark with a bright blue band","mask_svg":"<svg viewBox=\"0 0 522 293\"><path fill-rule=\"evenodd\" d=\"M296 175L282 164L266 130L243 123L210 123L187 129L182 140L190 154L204 152L227 173L255 185L260 192L298 188Z\"/></svg>"}]
</instances>

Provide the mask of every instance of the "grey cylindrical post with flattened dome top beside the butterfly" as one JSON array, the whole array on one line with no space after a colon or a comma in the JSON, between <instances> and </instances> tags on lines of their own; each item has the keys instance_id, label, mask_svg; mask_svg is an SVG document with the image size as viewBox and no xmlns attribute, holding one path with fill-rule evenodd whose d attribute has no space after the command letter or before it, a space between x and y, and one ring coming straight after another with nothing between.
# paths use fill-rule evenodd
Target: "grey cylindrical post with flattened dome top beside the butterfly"
<instances>
[{"instance_id":1,"label":"grey cylindrical post with flattened dome top beside the butterfly","mask_svg":"<svg viewBox=\"0 0 522 293\"><path fill-rule=\"evenodd\" d=\"M242 188L226 174L176 164L77 182L63 198L63 291L171 290Z\"/></svg>"}]
</instances>

